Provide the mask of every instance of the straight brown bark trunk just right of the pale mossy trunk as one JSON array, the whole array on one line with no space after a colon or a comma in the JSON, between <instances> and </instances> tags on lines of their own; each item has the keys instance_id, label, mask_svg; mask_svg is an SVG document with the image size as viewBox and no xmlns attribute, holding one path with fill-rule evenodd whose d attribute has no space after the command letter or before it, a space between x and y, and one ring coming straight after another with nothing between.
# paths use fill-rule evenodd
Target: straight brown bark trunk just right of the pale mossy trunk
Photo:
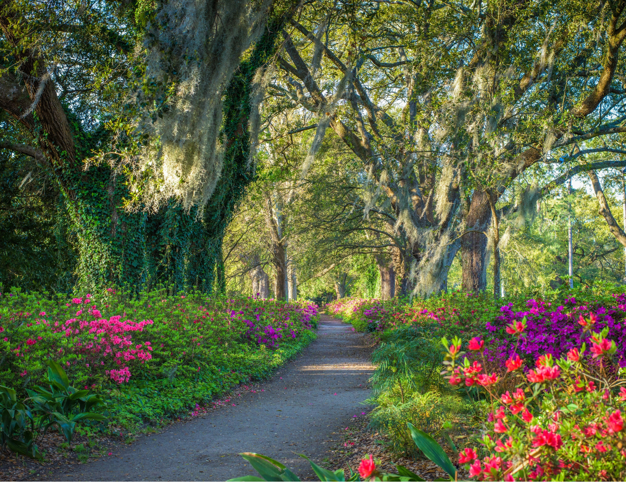
<instances>
[{"instance_id":1,"label":"straight brown bark trunk just right of the pale mossy trunk","mask_svg":"<svg viewBox=\"0 0 626 487\"><path fill-rule=\"evenodd\" d=\"M479 292L487 289L485 267L487 236L484 232L491 223L491 208L486 193L475 190L466 219L466 232L461 237L461 265L463 290Z\"/></svg>"}]
</instances>

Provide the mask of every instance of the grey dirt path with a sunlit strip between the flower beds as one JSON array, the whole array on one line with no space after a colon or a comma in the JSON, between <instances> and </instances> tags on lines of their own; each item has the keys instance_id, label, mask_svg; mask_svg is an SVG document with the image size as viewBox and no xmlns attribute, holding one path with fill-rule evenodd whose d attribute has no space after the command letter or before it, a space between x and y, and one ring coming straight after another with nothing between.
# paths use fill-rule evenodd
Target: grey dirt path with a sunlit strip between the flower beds
<instances>
[{"instance_id":1,"label":"grey dirt path with a sunlit strip between the flower beds","mask_svg":"<svg viewBox=\"0 0 626 487\"><path fill-rule=\"evenodd\" d=\"M221 408L158 434L142 436L114 456L78 465L53 481L224 481L255 474L239 453L266 454L289 466L302 480L316 480L304 453L327 456L331 432L369 411L372 373L362 334L321 315L317 340L268 382Z\"/></svg>"}]
</instances>

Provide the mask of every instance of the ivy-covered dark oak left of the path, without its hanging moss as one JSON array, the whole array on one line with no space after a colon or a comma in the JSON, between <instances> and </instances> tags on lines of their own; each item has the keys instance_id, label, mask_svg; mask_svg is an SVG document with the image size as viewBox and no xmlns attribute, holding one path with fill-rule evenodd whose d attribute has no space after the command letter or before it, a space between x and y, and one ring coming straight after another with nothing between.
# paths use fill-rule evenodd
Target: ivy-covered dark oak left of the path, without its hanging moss
<instances>
[{"instance_id":1,"label":"ivy-covered dark oak left of the path, without its hanging moss","mask_svg":"<svg viewBox=\"0 0 626 487\"><path fill-rule=\"evenodd\" d=\"M141 42L146 40L146 27L151 33L161 28L159 15L172 4L111 2L88 8L63 2L0 3L0 109L9 115L3 118L8 130L0 146L42 161L53 174L63 198L61 211L69 216L76 235L77 284L82 288L105 282L136 287L160 281L175 289L198 285L209 290L216 279L221 289L225 284L223 233L254 180L248 126L254 111L255 75L267 66L277 33L296 4L259 4L255 35L245 29L239 32L240 37L250 38L247 45L252 43L245 58L242 52L230 56L231 63L213 73L218 92L202 93L221 100L215 109L221 120L217 121L221 184L200 207L175 192L156 205L138 203L142 194L149 193L151 180L128 163L133 150L158 138L130 122L146 111L157 119L167 115L177 101L166 96L148 106L129 100L133 93L159 96L160 81L146 74L150 51L146 53ZM220 26L228 29L220 21L230 4L213 2L208 8L215 15L204 19L205 28L218 33ZM215 41L206 39L211 40ZM178 44L185 41L179 38ZM217 48L222 41L217 35ZM217 48L214 51L221 52ZM200 68L208 64L208 71L212 61L195 60ZM168 86L178 83L180 88L185 79L170 74ZM212 76L204 74L205 79Z\"/></svg>"}]
</instances>

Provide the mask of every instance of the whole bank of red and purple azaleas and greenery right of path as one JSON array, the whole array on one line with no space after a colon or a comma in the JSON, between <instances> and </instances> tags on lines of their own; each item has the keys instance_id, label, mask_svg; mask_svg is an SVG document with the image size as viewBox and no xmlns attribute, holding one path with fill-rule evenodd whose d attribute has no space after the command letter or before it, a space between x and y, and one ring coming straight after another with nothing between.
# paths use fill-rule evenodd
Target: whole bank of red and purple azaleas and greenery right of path
<instances>
[{"instance_id":1,"label":"whole bank of red and purple azaleas and greenery right of path","mask_svg":"<svg viewBox=\"0 0 626 487\"><path fill-rule=\"evenodd\" d=\"M625 290L346 298L327 310L380 342L369 426L395 453L416 454L412 423L440 436L474 479L623 480ZM458 338L444 360L446 336Z\"/></svg>"}]
</instances>

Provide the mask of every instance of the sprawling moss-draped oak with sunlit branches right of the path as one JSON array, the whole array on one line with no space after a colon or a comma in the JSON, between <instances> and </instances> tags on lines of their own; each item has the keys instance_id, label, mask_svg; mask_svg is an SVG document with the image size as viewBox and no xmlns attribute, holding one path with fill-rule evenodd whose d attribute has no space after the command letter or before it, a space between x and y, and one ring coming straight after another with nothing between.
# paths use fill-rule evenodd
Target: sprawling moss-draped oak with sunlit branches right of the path
<instances>
[{"instance_id":1,"label":"sprawling moss-draped oak with sunlit branches right of the path","mask_svg":"<svg viewBox=\"0 0 626 487\"><path fill-rule=\"evenodd\" d=\"M577 161L600 136L593 151L619 151L626 130L623 8L316 3L283 33L275 93L315 113L318 134L329 126L361 160L370 194L387 196L418 292L445 288L459 249L464 289L485 290L488 230L517 178L543 163L555 173L506 208L525 212L572 175L623 166Z\"/></svg>"}]
</instances>

